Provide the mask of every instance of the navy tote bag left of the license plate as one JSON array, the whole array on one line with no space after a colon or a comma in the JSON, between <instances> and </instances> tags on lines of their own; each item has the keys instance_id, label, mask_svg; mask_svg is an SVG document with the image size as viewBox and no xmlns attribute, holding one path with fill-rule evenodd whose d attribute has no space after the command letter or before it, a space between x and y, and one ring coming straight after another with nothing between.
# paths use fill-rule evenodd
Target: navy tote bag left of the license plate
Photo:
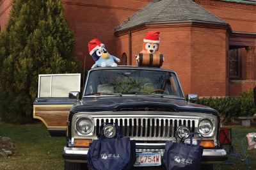
<instances>
[{"instance_id":1,"label":"navy tote bag left of the license plate","mask_svg":"<svg viewBox=\"0 0 256 170\"><path fill-rule=\"evenodd\" d=\"M111 123L109 123L111 124ZM88 150L88 164L95 170L130 169L136 160L135 141L122 137L115 123L116 138L104 137L102 128L97 140L93 140Z\"/></svg>"}]
</instances>

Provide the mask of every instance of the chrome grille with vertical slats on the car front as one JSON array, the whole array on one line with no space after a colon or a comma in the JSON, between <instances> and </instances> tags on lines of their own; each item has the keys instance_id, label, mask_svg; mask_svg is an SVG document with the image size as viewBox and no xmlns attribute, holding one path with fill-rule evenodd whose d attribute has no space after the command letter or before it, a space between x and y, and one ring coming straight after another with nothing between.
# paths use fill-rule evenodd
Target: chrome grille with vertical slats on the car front
<instances>
[{"instance_id":1,"label":"chrome grille with vertical slats on the car front","mask_svg":"<svg viewBox=\"0 0 256 170\"><path fill-rule=\"evenodd\" d=\"M99 135L102 123L116 123L124 136L154 139L175 137L177 127L183 125L195 132L198 120L186 118L94 118L95 132Z\"/></svg>"}]
</instances>

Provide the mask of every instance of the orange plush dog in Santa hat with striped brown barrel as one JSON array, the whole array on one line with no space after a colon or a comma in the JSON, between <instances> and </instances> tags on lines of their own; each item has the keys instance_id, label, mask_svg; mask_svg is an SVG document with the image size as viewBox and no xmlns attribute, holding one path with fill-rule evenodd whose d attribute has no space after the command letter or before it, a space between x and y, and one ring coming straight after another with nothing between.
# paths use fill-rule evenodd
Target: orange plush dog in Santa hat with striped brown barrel
<instances>
[{"instance_id":1,"label":"orange plush dog in Santa hat with striped brown barrel","mask_svg":"<svg viewBox=\"0 0 256 170\"><path fill-rule=\"evenodd\" d=\"M149 31L143 40L143 50L136 56L138 66L161 67L164 62L163 54L159 49L159 31Z\"/></svg>"}]
</instances>

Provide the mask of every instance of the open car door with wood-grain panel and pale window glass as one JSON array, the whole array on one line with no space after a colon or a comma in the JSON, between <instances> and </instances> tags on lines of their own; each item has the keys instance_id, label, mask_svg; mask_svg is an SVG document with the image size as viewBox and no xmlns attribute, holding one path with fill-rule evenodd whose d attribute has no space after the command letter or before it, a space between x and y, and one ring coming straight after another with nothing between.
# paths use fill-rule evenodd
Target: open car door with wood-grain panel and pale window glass
<instances>
[{"instance_id":1,"label":"open car door with wood-grain panel and pale window glass","mask_svg":"<svg viewBox=\"0 0 256 170\"><path fill-rule=\"evenodd\" d=\"M80 73L38 75L38 97L33 118L41 120L52 136L66 136L70 108L77 101L70 91L80 91Z\"/></svg>"}]
</instances>

